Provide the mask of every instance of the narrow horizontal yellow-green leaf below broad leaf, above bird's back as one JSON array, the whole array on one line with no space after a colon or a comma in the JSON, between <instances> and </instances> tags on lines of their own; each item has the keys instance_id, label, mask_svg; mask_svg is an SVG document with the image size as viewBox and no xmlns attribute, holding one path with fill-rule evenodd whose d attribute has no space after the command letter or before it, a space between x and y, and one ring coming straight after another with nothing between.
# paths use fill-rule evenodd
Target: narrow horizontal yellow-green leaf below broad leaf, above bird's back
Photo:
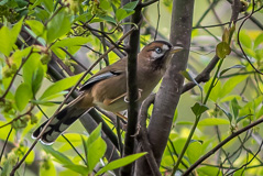
<instances>
[{"instance_id":1,"label":"narrow horizontal yellow-green leaf below broad leaf, above bird's back","mask_svg":"<svg viewBox=\"0 0 263 176\"><path fill-rule=\"evenodd\" d=\"M86 44L88 41L89 41L88 37L83 37L83 36L68 37L68 38L56 42L54 45L52 45L51 48L83 45L83 44Z\"/></svg>"}]
</instances>

